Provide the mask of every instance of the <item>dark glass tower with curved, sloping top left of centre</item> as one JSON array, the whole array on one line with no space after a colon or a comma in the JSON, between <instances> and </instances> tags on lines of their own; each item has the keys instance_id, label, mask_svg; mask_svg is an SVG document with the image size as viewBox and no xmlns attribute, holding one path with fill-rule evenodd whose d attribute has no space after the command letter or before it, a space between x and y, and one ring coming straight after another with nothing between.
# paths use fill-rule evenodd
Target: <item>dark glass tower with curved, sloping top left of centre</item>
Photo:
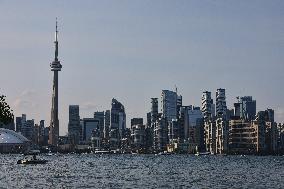
<instances>
[{"instance_id":1,"label":"dark glass tower with curved, sloping top left of centre","mask_svg":"<svg viewBox=\"0 0 284 189\"><path fill-rule=\"evenodd\" d=\"M117 129L120 138L123 138L126 129L126 114L124 106L116 99L111 103L111 129Z\"/></svg>"}]
</instances>

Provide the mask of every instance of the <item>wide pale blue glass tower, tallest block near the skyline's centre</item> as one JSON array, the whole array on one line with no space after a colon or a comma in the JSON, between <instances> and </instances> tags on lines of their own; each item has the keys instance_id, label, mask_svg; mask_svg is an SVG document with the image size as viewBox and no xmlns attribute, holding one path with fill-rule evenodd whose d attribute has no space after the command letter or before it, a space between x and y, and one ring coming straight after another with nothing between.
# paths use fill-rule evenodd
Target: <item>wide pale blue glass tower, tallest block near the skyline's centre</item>
<instances>
[{"instance_id":1,"label":"wide pale blue glass tower, tallest block near the skyline's centre","mask_svg":"<svg viewBox=\"0 0 284 189\"><path fill-rule=\"evenodd\" d=\"M177 119L177 93L169 90L162 90L161 94L162 117L168 121Z\"/></svg>"}]
</instances>

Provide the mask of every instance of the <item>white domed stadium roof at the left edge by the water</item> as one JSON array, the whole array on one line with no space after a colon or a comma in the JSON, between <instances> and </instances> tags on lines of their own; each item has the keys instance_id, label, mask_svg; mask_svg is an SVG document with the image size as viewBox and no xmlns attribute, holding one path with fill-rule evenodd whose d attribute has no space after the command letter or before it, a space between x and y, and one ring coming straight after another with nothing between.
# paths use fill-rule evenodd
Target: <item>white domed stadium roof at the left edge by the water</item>
<instances>
[{"instance_id":1,"label":"white domed stadium roof at the left edge by the water","mask_svg":"<svg viewBox=\"0 0 284 189\"><path fill-rule=\"evenodd\" d=\"M18 153L28 148L30 140L9 129L0 128L0 153Z\"/></svg>"}]
</instances>

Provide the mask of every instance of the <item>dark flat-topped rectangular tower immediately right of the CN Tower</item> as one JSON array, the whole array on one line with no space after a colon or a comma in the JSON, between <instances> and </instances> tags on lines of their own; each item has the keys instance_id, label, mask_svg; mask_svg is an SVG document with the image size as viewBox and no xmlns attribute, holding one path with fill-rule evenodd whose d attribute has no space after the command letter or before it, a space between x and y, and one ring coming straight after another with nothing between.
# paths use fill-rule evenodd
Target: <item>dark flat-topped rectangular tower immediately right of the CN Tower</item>
<instances>
[{"instance_id":1,"label":"dark flat-topped rectangular tower immediately right of the CN Tower","mask_svg":"<svg viewBox=\"0 0 284 189\"><path fill-rule=\"evenodd\" d=\"M79 105L69 105L68 139L79 144L81 134Z\"/></svg>"}]
</instances>

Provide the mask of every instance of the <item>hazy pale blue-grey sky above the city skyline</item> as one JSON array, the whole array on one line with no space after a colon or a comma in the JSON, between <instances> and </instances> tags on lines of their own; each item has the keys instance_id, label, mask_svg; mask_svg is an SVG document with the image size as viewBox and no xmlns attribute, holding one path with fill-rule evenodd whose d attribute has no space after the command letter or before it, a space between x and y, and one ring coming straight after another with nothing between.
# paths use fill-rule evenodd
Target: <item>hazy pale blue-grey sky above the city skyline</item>
<instances>
[{"instance_id":1,"label":"hazy pale blue-grey sky above the city skyline","mask_svg":"<svg viewBox=\"0 0 284 189\"><path fill-rule=\"evenodd\" d=\"M283 10L282 0L0 0L0 94L15 117L49 125L58 17L61 135L71 104L93 117L116 98L129 127L175 86L183 105L225 88L228 108L249 95L284 122Z\"/></svg>"}]
</instances>

